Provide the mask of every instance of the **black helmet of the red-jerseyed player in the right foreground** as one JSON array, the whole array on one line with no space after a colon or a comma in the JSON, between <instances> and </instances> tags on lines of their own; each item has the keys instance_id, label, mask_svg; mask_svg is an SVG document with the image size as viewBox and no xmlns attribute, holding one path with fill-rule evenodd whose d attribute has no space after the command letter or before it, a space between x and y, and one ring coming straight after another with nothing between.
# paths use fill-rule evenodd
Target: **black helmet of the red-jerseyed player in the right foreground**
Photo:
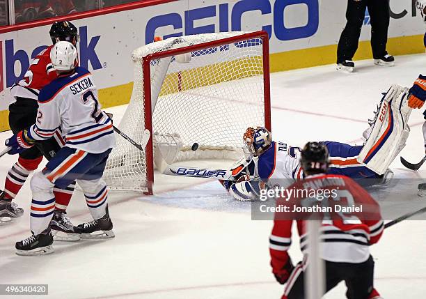
<instances>
[{"instance_id":1,"label":"black helmet of the red-jerseyed player in the right foreground","mask_svg":"<svg viewBox=\"0 0 426 299\"><path fill-rule=\"evenodd\" d=\"M306 174L324 174L329 168L329 151L320 142L308 142L301 151L300 162Z\"/></svg>"}]
</instances>

